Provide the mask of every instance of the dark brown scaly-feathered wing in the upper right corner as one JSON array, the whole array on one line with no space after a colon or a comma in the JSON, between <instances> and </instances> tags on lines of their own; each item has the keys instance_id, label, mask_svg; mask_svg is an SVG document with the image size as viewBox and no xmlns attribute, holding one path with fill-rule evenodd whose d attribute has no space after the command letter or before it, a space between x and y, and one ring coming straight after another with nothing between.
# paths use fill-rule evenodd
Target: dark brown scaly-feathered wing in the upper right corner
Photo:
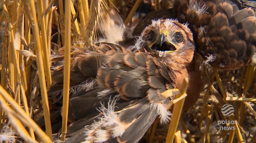
<instances>
[{"instance_id":1,"label":"dark brown scaly-feathered wing in the upper right corner","mask_svg":"<svg viewBox=\"0 0 256 143\"><path fill-rule=\"evenodd\" d=\"M256 61L256 2L250 4L236 0L176 0L173 14L180 22L190 24L205 64L232 70Z\"/></svg>"}]
</instances>

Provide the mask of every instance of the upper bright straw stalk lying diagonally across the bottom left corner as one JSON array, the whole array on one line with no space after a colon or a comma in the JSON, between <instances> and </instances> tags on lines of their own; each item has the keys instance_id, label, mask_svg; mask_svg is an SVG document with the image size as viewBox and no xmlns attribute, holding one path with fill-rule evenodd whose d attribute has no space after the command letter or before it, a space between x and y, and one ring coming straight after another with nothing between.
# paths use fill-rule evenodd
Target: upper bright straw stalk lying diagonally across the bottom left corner
<instances>
[{"instance_id":1,"label":"upper bright straw stalk lying diagonally across the bottom left corner","mask_svg":"<svg viewBox=\"0 0 256 143\"><path fill-rule=\"evenodd\" d=\"M41 128L34 122L33 119L31 119L29 117L29 115L26 114L26 112L20 108L20 106L18 105L18 103L16 103L16 101L14 101L14 99L2 88L2 86L0 86L0 101L4 101L2 99L2 97L11 105L12 108L14 108L14 110L16 111L15 114L20 115L20 117L23 118L23 121L26 122L26 124L29 125L29 127L31 127L34 132L36 132L36 134L39 136L39 138L41 139L41 141L43 141L44 143L51 143L51 139L49 138L49 136L46 136L45 133L43 132L43 130L41 130ZM4 103L3 103L4 104ZM1 105L3 105L1 103ZM7 108L9 109L9 108ZM8 112L8 111L6 111Z\"/></svg>"}]
</instances>

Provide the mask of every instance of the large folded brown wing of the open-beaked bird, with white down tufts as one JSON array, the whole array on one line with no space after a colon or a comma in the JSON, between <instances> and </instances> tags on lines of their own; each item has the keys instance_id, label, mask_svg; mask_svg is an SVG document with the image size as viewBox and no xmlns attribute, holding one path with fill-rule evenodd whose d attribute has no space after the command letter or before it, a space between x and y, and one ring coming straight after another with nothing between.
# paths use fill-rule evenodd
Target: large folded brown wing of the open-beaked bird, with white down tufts
<instances>
[{"instance_id":1,"label":"large folded brown wing of the open-beaked bird, with white down tufts","mask_svg":"<svg viewBox=\"0 0 256 143\"><path fill-rule=\"evenodd\" d=\"M71 137L67 142L134 143L158 115L162 122L170 119L167 107L171 98L162 97L161 92L176 88L175 77L150 53L101 44L94 51L72 58L71 66L68 118L73 123L68 128L67 136ZM52 77L57 77L52 88L62 84L62 70L52 72ZM54 94L52 88L49 92ZM79 140L77 133L83 131Z\"/></svg>"}]
</instances>

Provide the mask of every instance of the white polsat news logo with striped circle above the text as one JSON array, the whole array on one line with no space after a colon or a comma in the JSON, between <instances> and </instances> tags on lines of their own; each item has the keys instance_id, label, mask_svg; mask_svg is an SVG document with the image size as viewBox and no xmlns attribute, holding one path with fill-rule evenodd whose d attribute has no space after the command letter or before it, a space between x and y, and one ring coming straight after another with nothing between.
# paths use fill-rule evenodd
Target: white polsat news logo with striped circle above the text
<instances>
[{"instance_id":1,"label":"white polsat news logo with striped circle above the text","mask_svg":"<svg viewBox=\"0 0 256 143\"><path fill-rule=\"evenodd\" d=\"M224 116L229 117L234 113L234 108L230 104L225 104L222 106L221 112ZM227 119L217 121L217 124L220 125L220 130L236 130L235 123L236 121L230 121Z\"/></svg>"}]
</instances>

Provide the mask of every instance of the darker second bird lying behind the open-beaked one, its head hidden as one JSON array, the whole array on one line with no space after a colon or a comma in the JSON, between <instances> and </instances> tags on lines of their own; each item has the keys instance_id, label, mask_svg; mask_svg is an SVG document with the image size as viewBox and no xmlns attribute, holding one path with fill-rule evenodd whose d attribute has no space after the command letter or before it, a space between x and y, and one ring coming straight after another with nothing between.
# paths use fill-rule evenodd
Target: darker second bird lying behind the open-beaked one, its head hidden
<instances>
[{"instance_id":1,"label":"darker second bird lying behind the open-beaked one, its head hidden","mask_svg":"<svg viewBox=\"0 0 256 143\"><path fill-rule=\"evenodd\" d=\"M193 61L187 66L190 82L183 110L188 110L207 83L201 78L200 64L210 64L220 70L236 70L256 63L256 2L174 0L173 5L171 9L148 13L132 34L139 36L152 20L159 18L177 18L188 24L196 47ZM132 40L119 43L127 41Z\"/></svg>"}]
</instances>

